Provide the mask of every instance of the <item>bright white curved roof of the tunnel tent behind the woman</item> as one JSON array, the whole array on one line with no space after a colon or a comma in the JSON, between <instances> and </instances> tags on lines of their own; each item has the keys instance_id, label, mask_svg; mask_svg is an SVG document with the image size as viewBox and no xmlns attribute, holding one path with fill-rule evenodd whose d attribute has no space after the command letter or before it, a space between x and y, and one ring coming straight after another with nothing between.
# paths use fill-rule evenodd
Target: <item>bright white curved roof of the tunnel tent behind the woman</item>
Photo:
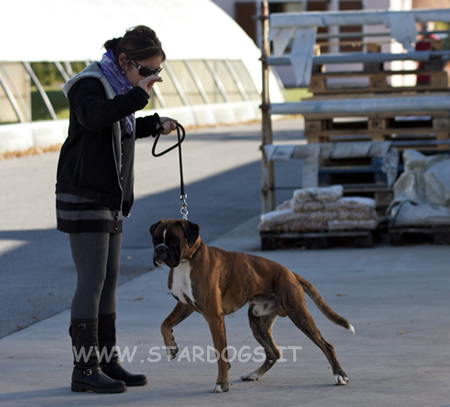
<instances>
[{"instance_id":1,"label":"bright white curved roof of the tunnel tent behind the woman","mask_svg":"<svg viewBox=\"0 0 450 407\"><path fill-rule=\"evenodd\" d=\"M103 43L144 24L168 58L254 58L253 41L209 0L2 0L2 61L98 59Z\"/></svg>"}]
</instances>

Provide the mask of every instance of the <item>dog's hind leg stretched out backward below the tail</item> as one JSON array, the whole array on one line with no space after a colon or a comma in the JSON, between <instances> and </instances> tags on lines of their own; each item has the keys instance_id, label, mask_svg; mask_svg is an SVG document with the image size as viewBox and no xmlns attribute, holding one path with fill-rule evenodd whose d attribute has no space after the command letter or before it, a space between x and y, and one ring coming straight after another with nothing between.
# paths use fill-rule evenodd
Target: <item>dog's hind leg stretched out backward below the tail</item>
<instances>
[{"instance_id":1,"label":"dog's hind leg stretched out backward below the tail","mask_svg":"<svg viewBox=\"0 0 450 407\"><path fill-rule=\"evenodd\" d=\"M293 284L292 284L293 286ZM345 385L349 379L342 369L336 357L333 345L328 343L314 322L311 314L306 308L305 294L301 287L292 288L282 294L281 306L288 317L292 320L309 339L311 339L325 354L333 370L336 385Z\"/></svg>"}]
</instances>

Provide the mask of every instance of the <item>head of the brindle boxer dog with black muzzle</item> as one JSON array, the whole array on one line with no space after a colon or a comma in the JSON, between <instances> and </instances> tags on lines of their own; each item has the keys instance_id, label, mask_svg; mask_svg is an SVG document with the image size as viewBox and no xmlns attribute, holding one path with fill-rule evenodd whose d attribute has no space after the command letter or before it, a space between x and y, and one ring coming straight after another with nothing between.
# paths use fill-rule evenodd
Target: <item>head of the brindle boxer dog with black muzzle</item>
<instances>
[{"instance_id":1,"label":"head of the brindle boxer dog with black muzzle","mask_svg":"<svg viewBox=\"0 0 450 407\"><path fill-rule=\"evenodd\" d=\"M177 267L188 260L200 244L200 227L187 220L161 219L150 227L155 266Z\"/></svg>"}]
</instances>

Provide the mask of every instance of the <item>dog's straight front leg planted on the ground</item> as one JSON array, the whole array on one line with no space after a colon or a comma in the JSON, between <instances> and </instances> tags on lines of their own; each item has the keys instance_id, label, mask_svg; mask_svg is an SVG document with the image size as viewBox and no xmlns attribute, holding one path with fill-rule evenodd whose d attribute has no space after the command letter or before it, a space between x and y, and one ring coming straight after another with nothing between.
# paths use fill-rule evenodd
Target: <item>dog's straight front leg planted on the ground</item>
<instances>
[{"instance_id":1,"label":"dog's straight front leg planted on the ground","mask_svg":"<svg viewBox=\"0 0 450 407\"><path fill-rule=\"evenodd\" d=\"M211 330L211 335L216 350L217 367L219 373L214 386L213 393L223 393L230 389L228 380L228 354L227 354L227 338L225 333L225 316L222 310L217 313L205 315Z\"/></svg>"}]
</instances>

